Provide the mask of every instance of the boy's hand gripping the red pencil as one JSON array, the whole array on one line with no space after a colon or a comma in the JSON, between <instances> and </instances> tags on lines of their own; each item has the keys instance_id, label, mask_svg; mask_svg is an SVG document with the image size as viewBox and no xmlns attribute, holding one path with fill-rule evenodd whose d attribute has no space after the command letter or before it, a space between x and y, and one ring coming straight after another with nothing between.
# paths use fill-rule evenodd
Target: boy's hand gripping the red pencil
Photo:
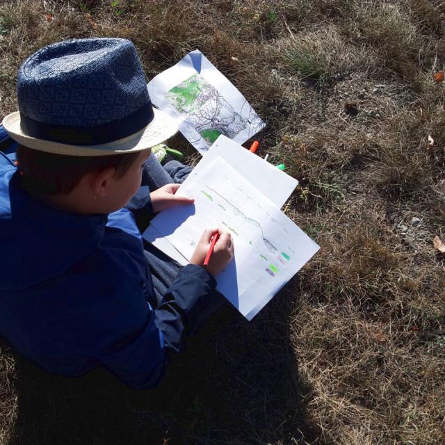
<instances>
[{"instance_id":1,"label":"boy's hand gripping the red pencil","mask_svg":"<svg viewBox=\"0 0 445 445\"><path fill-rule=\"evenodd\" d=\"M211 254L208 266L204 266L211 275L216 275L223 270L234 257L234 243L229 232L223 232L221 229L204 230L190 260L191 264L197 264L197 266L202 266L202 264L204 264L204 259L210 247L211 238L216 232L220 234L220 237L218 241L216 241L215 248L213 248L213 253Z\"/></svg>"}]
</instances>

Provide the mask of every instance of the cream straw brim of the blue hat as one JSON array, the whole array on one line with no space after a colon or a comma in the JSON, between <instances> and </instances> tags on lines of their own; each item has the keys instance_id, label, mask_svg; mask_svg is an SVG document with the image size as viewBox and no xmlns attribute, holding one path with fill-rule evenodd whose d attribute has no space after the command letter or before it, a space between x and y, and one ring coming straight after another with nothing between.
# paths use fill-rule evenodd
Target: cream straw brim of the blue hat
<instances>
[{"instance_id":1,"label":"cream straw brim of the blue hat","mask_svg":"<svg viewBox=\"0 0 445 445\"><path fill-rule=\"evenodd\" d=\"M133 133L126 138L113 140L100 145L70 145L33 138L23 133L20 127L20 113L16 111L3 118L3 127L11 138L25 147L54 154L66 154L68 156L106 156L110 154L123 154L140 152L143 149L154 147L170 138L178 131L177 122L167 113L153 108L154 118L147 127Z\"/></svg>"}]
</instances>

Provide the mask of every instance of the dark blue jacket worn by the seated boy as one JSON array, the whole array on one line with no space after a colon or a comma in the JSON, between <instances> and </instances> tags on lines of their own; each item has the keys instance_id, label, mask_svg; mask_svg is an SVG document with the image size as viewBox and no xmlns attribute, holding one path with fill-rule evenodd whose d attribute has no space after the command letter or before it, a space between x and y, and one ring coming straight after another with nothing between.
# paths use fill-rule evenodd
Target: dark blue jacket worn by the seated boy
<instances>
[{"instance_id":1,"label":"dark blue jacket worn by the seated boy","mask_svg":"<svg viewBox=\"0 0 445 445\"><path fill-rule=\"evenodd\" d=\"M131 211L80 216L48 207L19 188L8 158L0 153L0 336L51 373L102 365L132 387L155 385L168 350L184 348L220 304L214 278L182 268L154 310ZM133 210L150 208L142 187Z\"/></svg>"}]
</instances>

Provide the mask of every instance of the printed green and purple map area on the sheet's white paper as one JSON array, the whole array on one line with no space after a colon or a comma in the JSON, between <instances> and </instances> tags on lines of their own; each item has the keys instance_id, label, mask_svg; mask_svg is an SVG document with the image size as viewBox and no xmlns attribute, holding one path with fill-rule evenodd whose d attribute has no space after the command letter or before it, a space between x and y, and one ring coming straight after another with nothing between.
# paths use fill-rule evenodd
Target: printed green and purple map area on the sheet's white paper
<instances>
[{"instance_id":1,"label":"printed green and purple map area on the sheet's white paper","mask_svg":"<svg viewBox=\"0 0 445 445\"><path fill-rule=\"evenodd\" d=\"M202 140L191 140L192 144L200 142L208 148L220 134L233 139L247 130L247 138L250 138L264 127L264 122L247 101L237 113L200 74L193 74L171 88L165 99L183 115L184 124L190 124L199 133Z\"/></svg>"}]
</instances>

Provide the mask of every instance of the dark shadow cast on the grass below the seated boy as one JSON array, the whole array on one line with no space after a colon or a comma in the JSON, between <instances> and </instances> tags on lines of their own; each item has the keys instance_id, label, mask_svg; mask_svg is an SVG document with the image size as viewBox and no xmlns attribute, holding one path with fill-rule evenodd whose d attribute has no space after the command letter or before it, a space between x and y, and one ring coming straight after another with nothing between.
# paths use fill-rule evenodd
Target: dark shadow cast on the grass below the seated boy
<instances>
[{"instance_id":1,"label":"dark shadow cast on the grass below the seated boy","mask_svg":"<svg viewBox=\"0 0 445 445\"><path fill-rule=\"evenodd\" d=\"M16 354L8 445L319 443L289 342L291 300L280 293L250 323L227 304L145 391L103 369L49 375Z\"/></svg>"}]
</instances>

